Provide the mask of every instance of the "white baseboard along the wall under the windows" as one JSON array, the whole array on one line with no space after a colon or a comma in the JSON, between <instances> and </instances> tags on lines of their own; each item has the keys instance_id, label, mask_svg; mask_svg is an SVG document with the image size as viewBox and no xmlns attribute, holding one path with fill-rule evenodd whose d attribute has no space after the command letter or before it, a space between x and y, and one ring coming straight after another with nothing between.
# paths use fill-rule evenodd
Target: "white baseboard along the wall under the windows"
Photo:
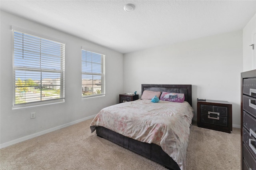
<instances>
[{"instance_id":1,"label":"white baseboard along the wall under the windows","mask_svg":"<svg viewBox=\"0 0 256 170\"><path fill-rule=\"evenodd\" d=\"M13 144L17 144L17 143L20 143L20 142L23 142L25 140L28 140L28 139L32 139L34 137L37 137L37 136L41 136L42 134L46 134L46 133L49 133L49 132L53 132L54 130L58 130L58 129L61 129L61 128L64 128L64 127L68 127L70 125L74 125L76 123L80 123L82 121L86 121L88 119L91 119L91 118L94 118L96 115L92 115L92 116L89 116L89 117L85 117L83 119L79 119L79 120L76 120L76 121L73 121L73 122L70 122L70 123L66 123L64 125L60 125L58 127L54 127L54 128L50 128L50 129L47 129L47 130L43 130L41 132L37 132L37 133L34 133L34 134L30 134L28 136L24 136L22 138L18 138L18 139L15 139L15 140L12 140L10 142L5 142L3 144L0 144L0 149L2 148L5 148L7 146L11 146Z\"/></svg>"}]
</instances>

